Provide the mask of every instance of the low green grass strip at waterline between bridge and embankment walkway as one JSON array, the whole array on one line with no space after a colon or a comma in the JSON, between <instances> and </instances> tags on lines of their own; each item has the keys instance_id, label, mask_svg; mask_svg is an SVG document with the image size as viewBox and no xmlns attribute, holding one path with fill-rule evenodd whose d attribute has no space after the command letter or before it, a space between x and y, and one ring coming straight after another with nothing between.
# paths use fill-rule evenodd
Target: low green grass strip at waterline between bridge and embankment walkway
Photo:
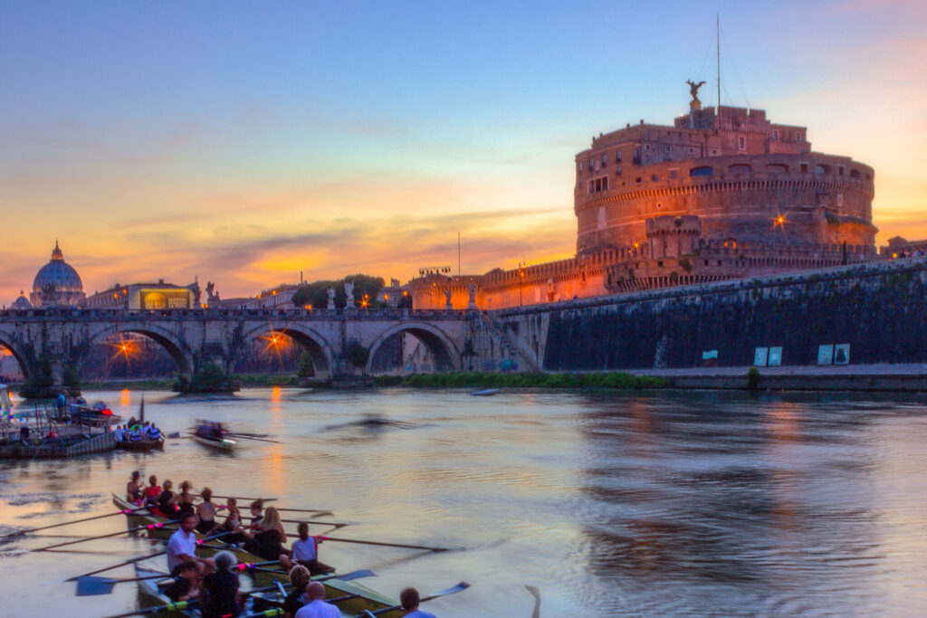
<instances>
[{"instance_id":1,"label":"low green grass strip at waterline between bridge and embankment walkway","mask_svg":"<svg viewBox=\"0 0 927 618\"><path fill-rule=\"evenodd\" d=\"M630 373L414 373L381 375L377 386L415 388L671 388L672 380Z\"/></svg>"}]
</instances>

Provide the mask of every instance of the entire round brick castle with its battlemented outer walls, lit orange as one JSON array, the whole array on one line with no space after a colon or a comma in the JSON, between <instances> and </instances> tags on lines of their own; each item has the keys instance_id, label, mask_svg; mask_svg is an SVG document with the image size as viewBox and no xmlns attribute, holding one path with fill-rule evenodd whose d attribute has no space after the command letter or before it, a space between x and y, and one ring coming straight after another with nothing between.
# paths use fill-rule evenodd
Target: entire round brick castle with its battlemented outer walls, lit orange
<instances>
[{"instance_id":1,"label":"entire round brick castle with its battlemented outer walls, lit orange","mask_svg":"<svg viewBox=\"0 0 927 618\"><path fill-rule=\"evenodd\" d=\"M576 156L572 259L425 274L416 309L502 309L877 259L870 166L813 152L761 109L703 108L600 133Z\"/></svg>"}]
</instances>

